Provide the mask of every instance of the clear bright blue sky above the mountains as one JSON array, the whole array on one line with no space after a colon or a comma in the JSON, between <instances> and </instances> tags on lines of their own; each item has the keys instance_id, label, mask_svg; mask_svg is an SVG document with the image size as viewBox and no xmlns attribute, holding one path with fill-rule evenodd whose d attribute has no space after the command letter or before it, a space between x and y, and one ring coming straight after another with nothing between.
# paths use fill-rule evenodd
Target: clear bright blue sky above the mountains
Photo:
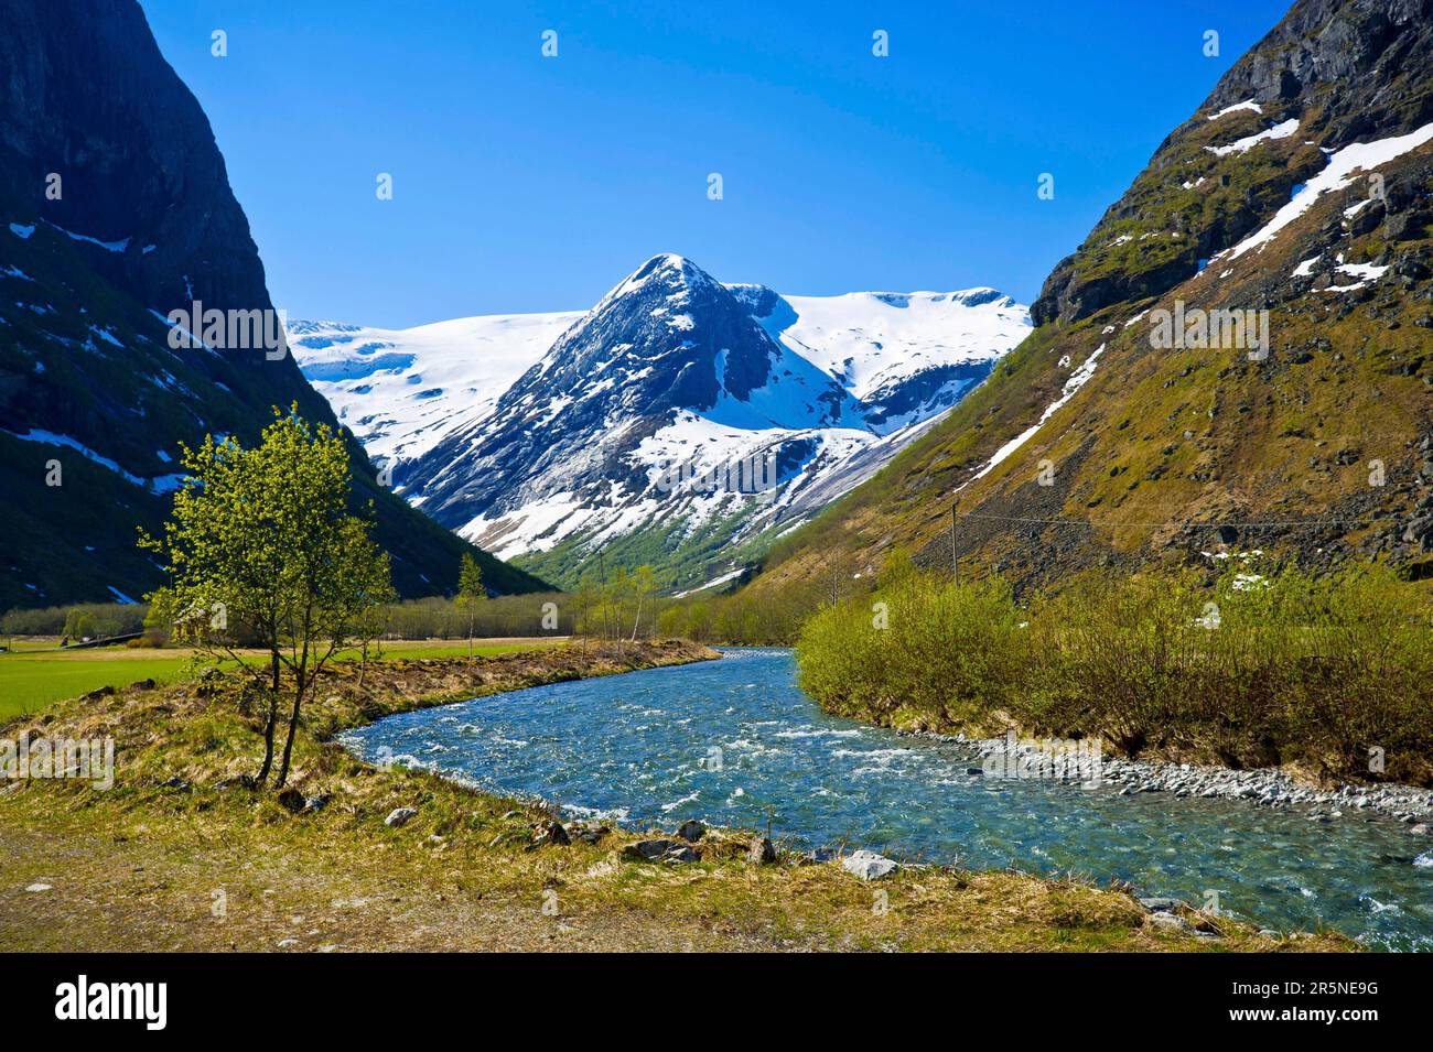
<instances>
[{"instance_id":1,"label":"clear bright blue sky above the mountains","mask_svg":"<svg viewBox=\"0 0 1433 1052\"><path fill-rule=\"evenodd\" d=\"M788 293L1029 302L1287 7L142 6L209 115L275 303L381 326L586 309L656 252Z\"/></svg>"}]
</instances>

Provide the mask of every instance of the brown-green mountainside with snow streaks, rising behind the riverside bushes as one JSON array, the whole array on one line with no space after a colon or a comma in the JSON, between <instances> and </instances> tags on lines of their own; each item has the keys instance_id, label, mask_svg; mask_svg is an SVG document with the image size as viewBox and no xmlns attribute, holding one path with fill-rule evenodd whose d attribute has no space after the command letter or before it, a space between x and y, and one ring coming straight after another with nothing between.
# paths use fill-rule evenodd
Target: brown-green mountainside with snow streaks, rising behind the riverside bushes
<instances>
[{"instance_id":1,"label":"brown-green mountainside with snow streaks, rising behind the riverside bushes","mask_svg":"<svg viewBox=\"0 0 1433 1052\"><path fill-rule=\"evenodd\" d=\"M1430 70L1427 0L1295 3L1055 268L1030 338L758 587L896 545L1020 583L1252 548L1433 575Z\"/></svg>"}]
</instances>

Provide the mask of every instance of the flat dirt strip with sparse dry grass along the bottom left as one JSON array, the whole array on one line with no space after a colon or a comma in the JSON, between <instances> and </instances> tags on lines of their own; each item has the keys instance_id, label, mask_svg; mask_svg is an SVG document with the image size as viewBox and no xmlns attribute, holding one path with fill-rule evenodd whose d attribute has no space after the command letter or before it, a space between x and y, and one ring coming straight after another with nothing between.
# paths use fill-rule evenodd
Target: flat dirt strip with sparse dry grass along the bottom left
<instances>
[{"instance_id":1,"label":"flat dirt strip with sparse dry grass along the bottom left","mask_svg":"<svg viewBox=\"0 0 1433 1052\"><path fill-rule=\"evenodd\" d=\"M770 940L639 912L543 913L457 880L340 873L222 843L54 837L0 826L0 946L130 950L762 950ZM46 892L24 890L50 885ZM138 937L136 937L136 933Z\"/></svg>"}]
</instances>

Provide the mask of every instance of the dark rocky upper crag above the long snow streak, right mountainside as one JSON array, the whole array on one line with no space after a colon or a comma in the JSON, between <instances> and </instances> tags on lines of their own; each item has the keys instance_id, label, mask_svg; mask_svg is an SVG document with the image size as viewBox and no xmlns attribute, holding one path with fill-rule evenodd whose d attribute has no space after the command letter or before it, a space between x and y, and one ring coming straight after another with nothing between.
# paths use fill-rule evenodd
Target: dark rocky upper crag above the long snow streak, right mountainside
<instances>
[{"instance_id":1,"label":"dark rocky upper crag above the long snow streak, right mountainside","mask_svg":"<svg viewBox=\"0 0 1433 1052\"><path fill-rule=\"evenodd\" d=\"M1060 260L1030 306L1036 325L1078 321L1113 303L1174 288L1198 273L1201 259L1254 230L1295 185L1317 173L1323 166L1320 150L1429 123L1430 64L1429 0L1295 4L1219 79L1199 112L1165 139L1079 250ZM1169 176L1201 159L1209 139L1209 115L1247 102L1260 109L1225 115L1221 129L1237 125L1257 133L1264 125L1297 119L1300 143L1317 140L1318 149L1270 157L1268 165L1244 157L1228 170L1211 173L1218 182L1171 192ZM1265 170L1251 170L1255 166ZM1168 236L1129 248L1118 238L1119 229L1131 223Z\"/></svg>"}]
</instances>

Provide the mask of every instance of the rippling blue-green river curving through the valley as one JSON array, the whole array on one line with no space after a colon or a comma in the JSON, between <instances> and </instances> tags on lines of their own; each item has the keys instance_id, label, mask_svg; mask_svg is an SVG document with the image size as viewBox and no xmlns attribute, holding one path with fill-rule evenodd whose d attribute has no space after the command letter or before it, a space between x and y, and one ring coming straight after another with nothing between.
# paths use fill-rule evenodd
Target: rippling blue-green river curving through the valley
<instances>
[{"instance_id":1,"label":"rippling blue-green river curving through the valley","mask_svg":"<svg viewBox=\"0 0 1433 1052\"><path fill-rule=\"evenodd\" d=\"M823 713L782 650L424 708L342 741L575 817L770 823L804 850L1119 877L1195 906L1212 890L1222 910L1281 930L1433 949L1433 852L1391 819L987 779L970 746Z\"/></svg>"}]
</instances>

